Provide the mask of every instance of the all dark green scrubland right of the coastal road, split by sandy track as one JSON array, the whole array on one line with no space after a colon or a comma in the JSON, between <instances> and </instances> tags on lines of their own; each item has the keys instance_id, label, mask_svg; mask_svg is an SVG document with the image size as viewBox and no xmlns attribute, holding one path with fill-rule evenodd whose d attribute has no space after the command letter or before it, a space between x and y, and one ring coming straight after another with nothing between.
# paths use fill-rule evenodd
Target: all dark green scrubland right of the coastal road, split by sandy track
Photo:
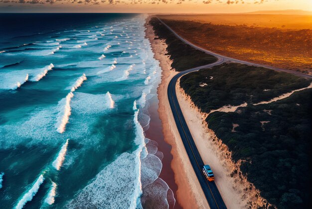
<instances>
[{"instance_id":1,"label":"all dark green scrubland right of the coastal road, split by sandy track","mask_svg":"<svg viewBox=\"0 0 312 209\"><path fill-rule=\"evenodd\" d=\"M199 86L203 83L207 85ZM277 102L253 104L310 83L291 74L236 63L203 69L180 80L205 112L227 104L248 104L235 112L213 112L206 121L229 147L232 159L244 160L243 175L279 209L309 208L312 89ZM233 130L233 124L239 126Z\"/></svg>"}]
</instances>

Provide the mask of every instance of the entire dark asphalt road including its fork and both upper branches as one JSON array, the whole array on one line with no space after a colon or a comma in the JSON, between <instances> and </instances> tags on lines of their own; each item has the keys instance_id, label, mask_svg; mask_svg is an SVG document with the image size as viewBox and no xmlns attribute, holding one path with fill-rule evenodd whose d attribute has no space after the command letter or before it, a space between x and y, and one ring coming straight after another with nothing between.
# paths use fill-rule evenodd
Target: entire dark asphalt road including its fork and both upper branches
<instances>
[{"instance_id":1,"label":"entire dark asphalt road including its fork and both upper branches","mask_svg":"<svg viewBox=\"0 0 312 209\"><path fill-rule=\"evenodd\" d=\"M211 209L226 209L226 206L222 200L222 197L218 191L216 184L214 182L207 181L207 179L205 178L205 176L202 173L202 167L204 166L204 163L203 163L201 156L197 150L197 147L196 147L196 144L193 140L193 137L192 137L192 135L188 129L188 126L186 124L186 121L184 119L183 113L181 111L181 108L179 106L179 103L178 103L178 100L176 97L175 86L176 86L177 80L185 74L188 74L188 73L191 73L194 71L198 71L200 69L210 68L210 67L215 66L215 65L220 65L224 62L236 62L236 63L246 64L246 65L253 65L253 66L257 66L257 67L265 67L265 68L269 68L269 69L272 69L275 71L291 73L291 74L294 74L294 75L297 75L300 77L304 77L304 78L312 78L312 76L306 75L306 74L303 74L300 72L296 72L296 71L254 64L254 63L250 63L250 62L246 62L246 61L242 61L242 60L237 60L237 59L233 59L230 57L226 57L226 56L216 54L214 52L203 49L203 48L196 46L196 45L192 44L191 42L183 39L174 30L172 30L168 25L166 25L161 19L158 18L158 20L163 25L165 25L177 38L179 38L184 43L192 46L193 48L195 48L197 50L200 50L200 51L203 51L207 54L213 55L218 59L215 63L208 64L205 66L196 67L196 68L192 68L192 69L185 70L185 71L182 71L182 72L176 74L171 79L171 81L169 82L167 94L168 94L168 100L169 100L169 104L170 104L170 107L172 110L172 114L173 114L177 129L179 131L179 134L181 136L183 145L185 147L188 158L192 164L192 167L195 171L195 174L196 174L197 179L201 185L201 188L202 188L202 190L206 196L206 199L208 201L210 208ZM213 170L213 168L212 168L212 170ZM218 178L218 177L216 177L216 178Z\"/></svg>"}]
</instances>

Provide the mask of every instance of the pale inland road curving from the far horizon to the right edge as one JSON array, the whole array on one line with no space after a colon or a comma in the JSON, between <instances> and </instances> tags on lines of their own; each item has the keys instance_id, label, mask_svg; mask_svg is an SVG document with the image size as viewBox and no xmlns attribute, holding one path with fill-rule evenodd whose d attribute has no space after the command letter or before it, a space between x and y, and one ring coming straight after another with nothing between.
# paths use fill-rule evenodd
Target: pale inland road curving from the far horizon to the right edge
<instances>
[{"instance_id":1,"label":"pale inland road curving from the far horizon to the right edge","mask_svg":"<svg viewBox=\"0 0 312 209\"><path fill-rule=\"evenodd\" d=\"M179 36L173 29L171 29L166 23L164 23L161 19L159 19L157 17L157 19L164 25L166 26L178 39L180 39L181 41L183 41L184 43L192 46L193 48L197 49L197 50L200 50L202 52L205 52L207 54L210 54L210 55L213 55L215 57L217 57L218 59L223 59L224 62L228 61L228 62L236 62L236 63L240 63L240 64L245 64L245 65L253 65L253 66L256 66L256 67L264 67L264 68L269 68L269 69L272 69L272 70L275 70L275 71L280 71L280 72L286 72L286 73L291 73L291 74L294 74L296 76L300 76L300 77L304 77L304 78L312 78L312 76L310 75L306 75L306 74L303 74L303 73L300 73L300 72L297 72L297 71L292 71L292 70L287 70L287 69L282 69L282 68L275 68L275 67L271 67L271 66L267 66L267 65L260 65L260 64L255 64L255 63L251 63L251 62L247 62L247 61L242 61L242 60L238 60L238 59L234 59L234 58L230 58L230 57L226 57L226 56L223 56L223 55L220 55L220 54L217 54L217 53L214 53L214 52L211 52L209 50L206 50L206 49L203 49L199 46L196 46L195 44L185 40L184 38L182 38L181 36Z\"/></svg>"}]
</instances>

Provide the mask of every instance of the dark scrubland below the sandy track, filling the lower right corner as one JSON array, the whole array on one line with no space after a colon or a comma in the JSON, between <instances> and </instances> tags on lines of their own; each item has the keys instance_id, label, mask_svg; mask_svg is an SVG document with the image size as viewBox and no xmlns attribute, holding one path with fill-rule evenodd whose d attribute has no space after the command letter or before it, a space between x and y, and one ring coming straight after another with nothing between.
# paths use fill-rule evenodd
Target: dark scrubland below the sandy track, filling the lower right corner
<instances>
[{"instance_id":1,"label":"dark scrubland below the sandy track, filling the lower right corner","mask_svg":"<svg viewBox=\"0 0 312 209\"><path fill-rule=\"evenodd\" d=\"M309 208L312 90L270 104L248 105L235 112L213 112L208 127L244 159L241 171L279 209ZM264 110L272 110L271 115ZM269 121L261 124L260 121ZM232 132L233 124L239 126Z\"/></svg>"}]
</instances>

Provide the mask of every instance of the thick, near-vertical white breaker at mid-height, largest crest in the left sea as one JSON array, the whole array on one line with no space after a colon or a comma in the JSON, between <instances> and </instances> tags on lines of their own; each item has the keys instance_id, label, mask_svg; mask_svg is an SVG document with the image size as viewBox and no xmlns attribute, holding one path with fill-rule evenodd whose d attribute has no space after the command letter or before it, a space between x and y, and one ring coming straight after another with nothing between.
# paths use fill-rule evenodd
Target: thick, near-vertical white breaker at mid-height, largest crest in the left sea
<instances>
[{"instance_id":1,"label":"thick, near-vertical white breaker at mid-height, largest crest in the left sea","mask_svg":"<svg viewBox=\"0 0 312 209\"><path fill-rule=\"evenodd\" d=\"M65 131L66 124L68 123L69 116L71 114L70 101L74 97L74 94L70 92L66 98L59 102L60 111L57 116L57 123L55 125L57 132L63 133Z\"/></svg>"}]
</instances>

